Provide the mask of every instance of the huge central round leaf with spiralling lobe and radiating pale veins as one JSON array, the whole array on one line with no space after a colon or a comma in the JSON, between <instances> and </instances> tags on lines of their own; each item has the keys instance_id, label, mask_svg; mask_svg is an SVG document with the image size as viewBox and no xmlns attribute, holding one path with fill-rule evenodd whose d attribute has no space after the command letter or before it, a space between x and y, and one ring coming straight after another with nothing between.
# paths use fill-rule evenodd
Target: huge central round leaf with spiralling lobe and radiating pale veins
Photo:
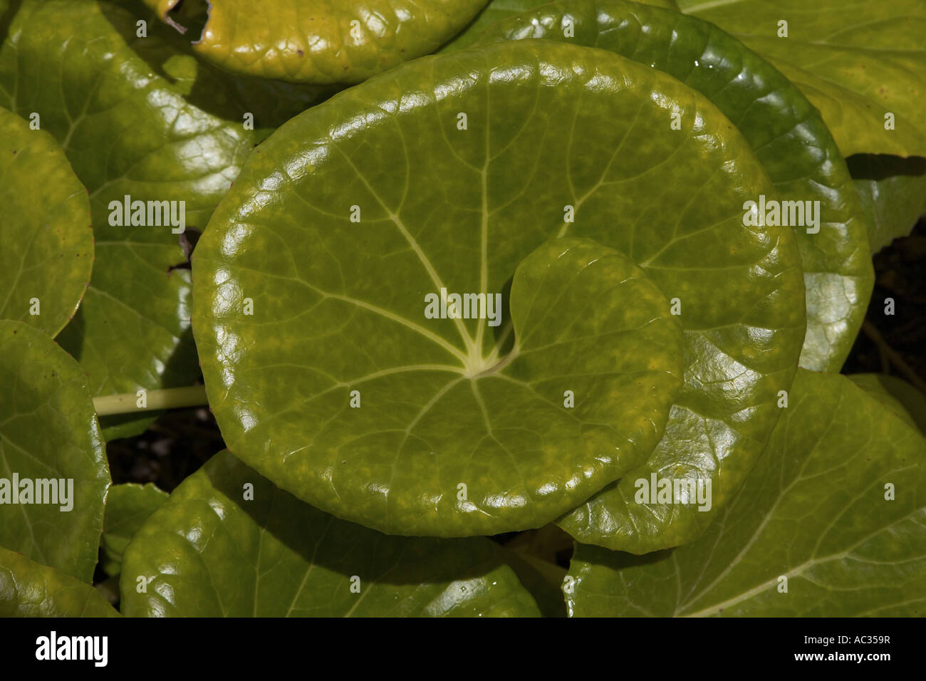
<instances>
[{"instance_id":1,"label":"huge central round leaf with spiralling lobe and radiating pale veins","mask_svg":"<svg viewBox=\"0 0 926 681\"><path fill-rule=\"evenodd\" d=\"M609 292L612 265L536 250L575 236L640 263L660 312L681 312L666 465L745 475L804 337L793 233L744 225L745 200L773 192L716 107L616 55L513 41L394 69L274 132L197 246L194 333L222 434L297 497L391 533L549 522L646 456L674 371L664 320L591 352L575 335L660 319L642 276ZM535 271L583 277L557 298ZM497 327L426 317L429 294L501 294L513 276ZM511 316L516 348L560 347L507 354Z\"/></svg>"}]
</instances>

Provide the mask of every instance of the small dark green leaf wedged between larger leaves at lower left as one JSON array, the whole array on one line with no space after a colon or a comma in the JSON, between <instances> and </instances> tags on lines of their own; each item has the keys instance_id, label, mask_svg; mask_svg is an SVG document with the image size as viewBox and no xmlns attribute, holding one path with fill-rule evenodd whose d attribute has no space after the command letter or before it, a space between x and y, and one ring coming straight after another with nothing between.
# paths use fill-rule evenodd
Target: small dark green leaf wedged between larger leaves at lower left
<instances>
[{"instance_id":1,"label":"small dark green leaf wedged between larger leaves at lower left","mask_svg":"<svg viewBox=\"0 0 926 681\"><path fill-rule=\"evenodd\" d=\"M168 493L148 483L126 483L109 488L106 497L106 514L103 518L103 570L109 576L122 569L122 552L131 537L152 513L167 501Z\"/></svg>"}]
</instances>

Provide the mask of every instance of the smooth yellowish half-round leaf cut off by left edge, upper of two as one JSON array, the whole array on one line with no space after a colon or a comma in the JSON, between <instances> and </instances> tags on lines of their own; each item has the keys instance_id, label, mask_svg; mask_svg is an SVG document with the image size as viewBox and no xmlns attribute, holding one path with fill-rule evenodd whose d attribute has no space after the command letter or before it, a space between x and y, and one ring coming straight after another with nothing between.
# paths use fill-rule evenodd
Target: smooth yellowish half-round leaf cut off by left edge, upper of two
<instances>
[{"instance_id":1,"label":"smooth yellowish half-round leaf cut off by left edge, upper of two","mask_svg":"<svg viewBox=\"0 0 926 681\"><path fill-rule=\"evenodd\" d=\"M38 180L41 179L41 182ZM56 335L94 267L87 190L47 132L0 108L0 319Z\"/></svg>"}]
</instances>

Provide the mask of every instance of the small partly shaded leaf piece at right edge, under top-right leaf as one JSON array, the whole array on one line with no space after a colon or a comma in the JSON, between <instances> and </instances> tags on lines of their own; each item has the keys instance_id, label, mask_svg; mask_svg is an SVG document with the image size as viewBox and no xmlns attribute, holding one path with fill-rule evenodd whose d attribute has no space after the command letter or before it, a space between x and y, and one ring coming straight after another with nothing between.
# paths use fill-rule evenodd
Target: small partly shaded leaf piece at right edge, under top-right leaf
<instances>
[{"instance_id":1,"label":"small partly shaded leaf piece at right edge, under top-right leaf","mask_svg":"<svg viewBox=\"0 0 926 681\"><path fill-rule=\"evenodd\" d=\"M847 161L877 253L926 215L926 158L858 154Z\"/></svg>"}]
</instances>

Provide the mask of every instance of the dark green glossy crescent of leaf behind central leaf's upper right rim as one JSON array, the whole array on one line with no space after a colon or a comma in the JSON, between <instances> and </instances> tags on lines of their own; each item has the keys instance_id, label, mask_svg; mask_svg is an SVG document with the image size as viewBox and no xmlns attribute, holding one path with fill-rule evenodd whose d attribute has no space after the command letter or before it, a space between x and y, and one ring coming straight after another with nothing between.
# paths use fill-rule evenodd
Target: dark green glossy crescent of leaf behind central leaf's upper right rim
<instances>
[{"instance_id":1,"label":"dark green glossy crescent of leaf behind central leaf's upper right rim","mask_svg":"<svg viewBox=\"0 0 926 681\"><path fill-rule=\"evenodd\" d=\"M479 40L544 38L616 52L666 71L705 95L743 132L782 200L811 202L816 224L802 208L797 245L807 286L807 336L801 366L838 372L868 309L874 274L866 213L820 112L769 62L713 24L626 0L558 0L510 16L500 2L466 34ZM464 41L460 36L455 44Z\"/></svg>"}]
</instances>

